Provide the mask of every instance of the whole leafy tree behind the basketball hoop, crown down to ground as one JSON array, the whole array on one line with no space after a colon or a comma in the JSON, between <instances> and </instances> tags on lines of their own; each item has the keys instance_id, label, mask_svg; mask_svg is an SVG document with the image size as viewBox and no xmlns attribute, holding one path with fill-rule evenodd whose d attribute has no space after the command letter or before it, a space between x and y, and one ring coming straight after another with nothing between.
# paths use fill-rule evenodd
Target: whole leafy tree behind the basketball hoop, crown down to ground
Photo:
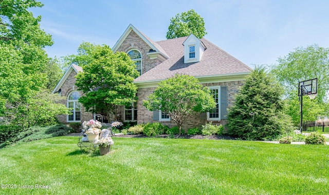
<instances>
[{"instance_id":1,"label":"whole leafy tree behind the basketball hoop, crown down to ground","mask_svg":"<svg viewBox=\"0 0 329 195\"><path fill-rule=\"evenodd\" d=\"M319 47L317 44L298 47L295 51L279 58L278 64L271 67L271 73L283 85L288 101L287 113L297 125L300 122L300 107L297 98L298 83L303 80L318 78L318 95L315 100L307 96L303 99L303 120L314 121L318 117L328 116L329 92L329 48Z\"/></svg>"}]
</instances>

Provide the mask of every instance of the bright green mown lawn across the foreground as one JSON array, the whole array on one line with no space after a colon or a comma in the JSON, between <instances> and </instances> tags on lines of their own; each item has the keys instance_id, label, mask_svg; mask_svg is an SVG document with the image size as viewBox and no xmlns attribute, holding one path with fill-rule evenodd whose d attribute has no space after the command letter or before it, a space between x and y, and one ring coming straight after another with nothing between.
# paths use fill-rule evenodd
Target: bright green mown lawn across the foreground
<instances>
[{"instance_id":1,"label":"bright green mown lawn across the foreground","mask_svg":"<svg viewBox=\"0 0 329 195\"><path fill-rule=\"evenodd\" d=\"M119 138L106 156L77 137L0 149L0 194L328 194L329 147L256 141Z\"/></svg>"}]
</instances>

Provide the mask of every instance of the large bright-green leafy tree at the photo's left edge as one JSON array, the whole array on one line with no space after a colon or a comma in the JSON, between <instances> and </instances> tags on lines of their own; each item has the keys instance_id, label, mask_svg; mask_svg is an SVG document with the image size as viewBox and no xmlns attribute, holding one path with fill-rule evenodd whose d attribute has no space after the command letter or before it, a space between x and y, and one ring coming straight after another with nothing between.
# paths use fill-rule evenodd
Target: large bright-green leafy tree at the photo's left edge
<instances>
[{"instance_id":1,"label":"large bright-green leafy tree at the photo's left edge","mask_svg":"<svg viewBox=\"0 0 329 195\"><path fill-rule=\"evenodd\" d=\"M42 125L41 118L49 121L56 114L66 113L59 104L53 106L56 99L49 98L50 103L41 95L50 81L49 59L43 48L53 42L40 28L41 16L34 17L28 8L42 6L34 0L0 0L0 115L22 129ZM38 110L59 110L38 112L32 105ZM41 117L42 113L47 114Z\"/></svg>"}]
</instances>

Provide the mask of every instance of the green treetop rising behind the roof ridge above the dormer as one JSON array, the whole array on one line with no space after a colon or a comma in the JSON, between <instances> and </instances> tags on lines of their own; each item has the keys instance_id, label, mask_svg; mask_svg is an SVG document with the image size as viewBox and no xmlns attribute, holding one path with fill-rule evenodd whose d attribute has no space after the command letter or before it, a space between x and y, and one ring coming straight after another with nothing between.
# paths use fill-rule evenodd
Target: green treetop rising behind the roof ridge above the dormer
<instances>
[{"instance_id":1,"label":"green treetop rising behind the roof ridge above the dormer","mask_svg":"<svg viewBox=\"0 0 329 195\"><path fill-rule=\"evenodd\" d=\"M203 17L197 14L193 9L177 14L170 19L167 39L189 36L193 33L197 38L203 38L207 32Z\"/></svg>"}]
</instances>

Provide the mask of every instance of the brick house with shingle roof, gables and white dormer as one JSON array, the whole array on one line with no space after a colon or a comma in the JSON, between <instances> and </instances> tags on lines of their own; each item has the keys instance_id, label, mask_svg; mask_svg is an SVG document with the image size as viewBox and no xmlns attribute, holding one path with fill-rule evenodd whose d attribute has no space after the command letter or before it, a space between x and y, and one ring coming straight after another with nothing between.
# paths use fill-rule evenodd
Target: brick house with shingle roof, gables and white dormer
<instances>
[{"instance_id":1,"label":"brick house with shingle roof, gables and white dormer","mask_svg":"<svg viewBox=\"0 0 329 195\"><path fill-rule=\"evenodd\" d=\"M199 113L188 118L182 128L198 127L206 121L225 123L227 108L233 104L234 95L239 92L240 86L252 70L205 38L198 39L190 34L188 37L155 42L131 24L112 50L126 52L135 61L136 69L140 73L134 81L138 86L138 101L131 107L118 109L118 120L124 122L159 121L170 127L175 126L175 122L166 113L148 111L142 103L148 99L160 81L175 74L186 74L208 86L217 105L211 113ZM53 91L65 96L66 101L63 103L72 108L72 115L59 116L62 122L82 122L93 118L94 114L86 112L78 102L78 98L83 94L77 91L75 75L80 71L80 66L70 65Z\"/></svg>"}]
</instances>

